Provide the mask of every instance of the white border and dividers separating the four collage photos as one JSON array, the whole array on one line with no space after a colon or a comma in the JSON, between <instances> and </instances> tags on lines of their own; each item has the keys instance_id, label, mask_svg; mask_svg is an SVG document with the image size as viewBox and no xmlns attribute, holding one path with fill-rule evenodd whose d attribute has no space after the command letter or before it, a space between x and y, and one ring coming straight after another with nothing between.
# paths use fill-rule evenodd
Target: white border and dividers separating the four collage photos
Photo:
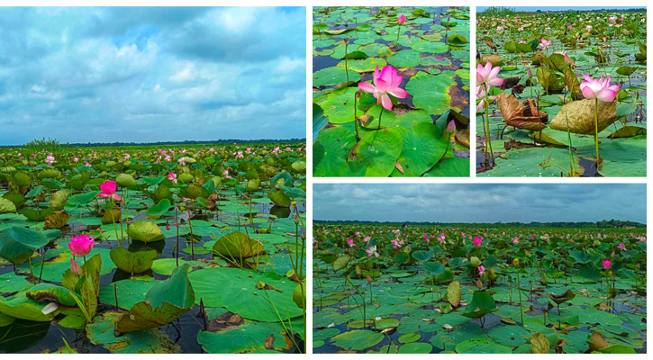
<instances>
[{"instance_id":1,"label":"white border and dividers separating the four collage photos","mask_svg":"<svg viewBox=\"0 0 653 360\"><path fill-rule=\"evenodd\" d=\"M570 1L564 1L564 0L549 0L549 1L541 1L540 5L542 7L546 6L605 6L605 7L613 7L615 5L619 4L614 4L611 1L607 0L595 0L595 1L589 1L589 0L576 0L571 4L572 2ZM624 1L625 4L623 6L642 6L642 7L648 7L647 8L647 18L650 18L650 7L651 4L647 1L642 1L642 0L627 0ZM241 1L238 4L234 4L233 2L229 1L224 1L224 0L213 0L213 1L207 1L207 0L159 0L159 1L154 1L154 0L132 0L132 1L127 1L127 0L113 0L113 1L108 1L108 0L95 0L95 1L81 1L81 0L0 0L0 6L305 6L306 7L306 157L307 157L307 186L306 186L306 192L308 194L308 199L307 199L307 204L306 204L306 218L307 218L307 232L306 232L306 247L307 247L307 260L306 264L311 265L307 266L307 271L306 271L306 276L307 276L307 281L306 281L306 288L309 289L308 293L312 294L313 293L313 254L312 251L308 251L309 248L312 248L312 238L313 238L313 230L312 230L312 224L313 224L313 184L346 184L346 183L351 183L351 184L485 184L485 183L493 183L493 184L501 184L501 183L508 183L508 184L647 184L648 187L648 175L645 178L637 178L637 177L622 177L622 178L616 178L616 177L608 177L608 178L594 178L594 177L580 177L580 178L575 178L572 180L569 180L567 178L521 178L521 177L504 177L504 178L477 178L476 177L476 151L473 149L470 150L470 163L471 163L471 169L470 169L470 177L443 177L443 178L421 178L421 177L405 177L405 178L392 178L392 177L383 177L383 178L368 178L368 177L324 177L324 178L315 178L313 179L313 116L312 116L312 110L313 110L313 96L312 96L312 80L313 80L313 66L312 66L312 61L313 61L313 45L312 45L312 27L313 27L313 19L312 19L312 7L313 6L450 6L450 5L456 5L456 6L468 6L470 8L470 24L471 24L471 29L470 29L470 37L469 37L469 42L470 42L470 74L472 74L475 69L476 69L476 27L474 26L476 24L476 6L510 6L510 7L516 7L516 6L523 6L523 5L538 5L537 3L530 3L530 4L525 4L523 1L517 1L517 0L495 0L495 1L488 1L488 0L431 0L431 1L424 1L424 0L406 0L406 1L387 1L387 0L376 0L376 1L370 1L370 0L358 0L358 1L351 1L351 0L331 0L331 1L325 1L325 0L244 0ZM2 34L0 33L0 36ZM648 32L648 39L647 43L650 43L650 31ZM650 48L648 48L650 49ZM471 89L474 89L474 83L475 83L475 77L476 76L470 76L470 109L473 110L476 106L474 103L476 102L475 99L475 92ZM650 79L648 79L647 85L649 88L651 85ZM470 118L472 118L470 116ZM476 134L476 121L470 121L470 134ZM475 139L476 136L471 136L471 139ZM474 148L474 147L472 147ZM648 146L647 148L647 157L650 158L651 155L651 147ZM651 169L653 166L650 164L647 165L647 174L651 174ZM651 203L649 200L650 195L648 192L646 193L647 197L647 223L653 223L651 221L651 211L649 209L649 204ZM650 255L648 255L648 262L650 262ZM648 273L648 283L650 283L651 278L653 276ZM312 296L307 296L307 302L312 302ZM307 304L308 306L309 304ZM306 344L307 344L307 352L309 355L292 355L292 354L285 354L285 355L274 355L271 356L273 358L286 356L288 357L293 357L293 358L309 358L309 359L334 359L334 360L340 360L340 359L359 359L362 357L365 358L370 358L370 356L374 355L366 355L366 354L316 354L316 355L311 355L312 354L312 344L313 344L313 334L312 334L312 323L313 323L313 312L312 309L307 309L307 324L306 324ZM648 337L647 337L648 341ZM49 355L47 357L52 357L52 358L71 358L71 357L76 357L78 358L79 356L71 356L71 355ZM90 357L93 356L93 358L107 358L109 356L116 357L117 355L86 355L86 356L81 356L81 357ZM141 360L141 359L154 359L155 356L166 356L166 357L175 357L179 358L180 355L161 355L161 354L156 354L156 355L121 355L117 356L120 358L124 359L134 359L134 360ZM240 355L240 354L225 354L225 355L199 355L199 354L184 354L181 356L185 356L187 358L213 358L220 356L220 359L224 360L236 360L240 358L260 358L260 359L269 359L270 355L258 355L258 354L249 354L249 355ZM390 355L392 357L397 357L397 355ZM384 357L384 358L390 358L390 356L385 356L385 355L376 355L376 357ZM420 355L399 355L398 357L404 358L404 359L432 359L434 357L438 356L449 356L449 358L461 358L465 360L477 360L477 357L479 355L444 355L444 354L420 354ZM453 357L451 357L453 356ZM504 356L512 357L512 358L517 358L520 355L492 355L492 354L484 354L480 355L483 356L484 359L501 359ZM529 355L527 356L528 358L539 358L543 359L545 356L548 355ZM576 358L579 359L583 355L559 355L555 357L564 357L564 358ZM601 358L601 359L607 359L609 355L593 355L592 358ZM642 356L646 355L639 355L639 356L628 356L628 357L637 357L637 358L642 358ZM0 360L5 360L5 359L29 359L29 360L42 360L41 354L25 354L25 355L2 355L0 357Z\"/></svg>"}]
</instances>

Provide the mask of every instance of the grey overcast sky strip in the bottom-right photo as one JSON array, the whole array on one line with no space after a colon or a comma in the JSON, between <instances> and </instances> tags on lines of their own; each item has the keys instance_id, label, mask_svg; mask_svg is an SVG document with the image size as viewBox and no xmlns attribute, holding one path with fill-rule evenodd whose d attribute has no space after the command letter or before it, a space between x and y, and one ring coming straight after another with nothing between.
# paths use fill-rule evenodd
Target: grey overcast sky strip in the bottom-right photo
<instances>
[{"instance_id":1,"label":"grey overcast sky strip in the bottom-right photo","mask_svg":"<svg viewBox=\"0 0 653 360\"><path fill-rule=\"evenodd\" d=\"M646 223L644 184L313 184L316 220Z\"/></svg>"}]
</instances>

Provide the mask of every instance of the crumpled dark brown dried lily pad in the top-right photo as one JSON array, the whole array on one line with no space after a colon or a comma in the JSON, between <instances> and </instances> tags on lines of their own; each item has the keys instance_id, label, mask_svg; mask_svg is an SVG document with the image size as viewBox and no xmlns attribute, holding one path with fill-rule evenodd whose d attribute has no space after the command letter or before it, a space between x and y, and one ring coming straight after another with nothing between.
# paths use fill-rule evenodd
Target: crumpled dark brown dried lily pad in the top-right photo
<instances>
[{"instance_id":1,"label":"crumpled dark brown dried lily pad in the top-right photo","mask_svg":"<svg viewBox=\"0 0 653 360\"><path fill-rule=\"evenodd\" d=\"M533 99L526 99L520 103L512 94L501 93L497 96L496 103L507 125L517 129L540 131L547 127L544 122L549 120L549 114L540 112Z\"/></svg>"}]
</instances>

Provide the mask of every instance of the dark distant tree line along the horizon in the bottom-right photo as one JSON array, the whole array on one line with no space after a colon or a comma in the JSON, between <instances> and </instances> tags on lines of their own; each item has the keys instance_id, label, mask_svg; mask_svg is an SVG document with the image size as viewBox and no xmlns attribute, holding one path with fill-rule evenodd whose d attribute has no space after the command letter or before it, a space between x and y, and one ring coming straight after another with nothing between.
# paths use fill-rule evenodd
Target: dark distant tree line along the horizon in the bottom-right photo
<instances>
[{"instance_id":1,"label":"dark distant tree line along the horizon in the bottom-right photo","mask_svg":"<svg viewBox=\"0 0 653 360\"><path fill-rule=\"evenodd\" d=\"M509 226L509 227L529 227L529 228L646 228L646 224L630 220L601 220L596 222L579 221L579 222L565 222L565 221L551 221L551 222L431 222L431 221L361 221L361 220L313 220L316 224L380 224L380 225L436 225L436 226L450 226L450 225L468 225L468 226Z\"/></svg>"}]
</instances>

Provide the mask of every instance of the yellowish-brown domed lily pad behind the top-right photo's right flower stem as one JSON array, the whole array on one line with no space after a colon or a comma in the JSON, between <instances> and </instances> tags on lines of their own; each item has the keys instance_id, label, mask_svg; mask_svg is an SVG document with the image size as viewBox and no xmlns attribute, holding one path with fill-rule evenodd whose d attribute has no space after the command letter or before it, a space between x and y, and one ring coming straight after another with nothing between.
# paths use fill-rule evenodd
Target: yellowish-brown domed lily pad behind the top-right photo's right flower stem
<instances>
[{"instance_id":1,"label":"yellowish-brown domed lily pad behind the top-right photo's right flower stem","mask_svg":"<svg viewBox=\"0 0 653 360\"><path fill-rule=\"evenodd\" d=\"M570 132L594 134L594 103L594 99L585 99L563 105L551 121L551 129L567 131L568 118ZM598 103L598 130L601 132L617 120L617 104Z\"/></svg>"}]
</instances>

